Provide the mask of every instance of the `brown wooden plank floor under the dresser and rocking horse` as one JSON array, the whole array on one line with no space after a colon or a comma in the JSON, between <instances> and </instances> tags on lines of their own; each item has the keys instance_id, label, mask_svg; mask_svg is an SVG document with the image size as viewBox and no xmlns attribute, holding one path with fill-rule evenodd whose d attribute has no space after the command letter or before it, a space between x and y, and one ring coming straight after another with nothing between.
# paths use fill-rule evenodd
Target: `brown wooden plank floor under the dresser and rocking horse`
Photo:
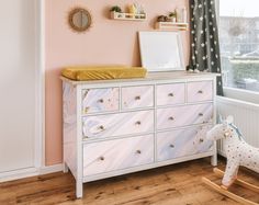
<instances>
[{"instance_id":1,"label":"brown wooden plank floor under the dresser and rocking horse","mask_svg":"<svg viewBox=\"0 0 259 205\"><path fill-rule=\"evenodd\" d=\"M219 168L225 161L219 160ZM259 175L241 169L241 179L259 185ZM61 172L0 184L0 205L236 205L210 190L202 176L216 180L209 159L158 168L85 184L83 200L75 198L75 180ZM219 182L219 180L217 180ZM258 194L233 187L240 195L259 202Z\"/></svg>"}]
</instances>

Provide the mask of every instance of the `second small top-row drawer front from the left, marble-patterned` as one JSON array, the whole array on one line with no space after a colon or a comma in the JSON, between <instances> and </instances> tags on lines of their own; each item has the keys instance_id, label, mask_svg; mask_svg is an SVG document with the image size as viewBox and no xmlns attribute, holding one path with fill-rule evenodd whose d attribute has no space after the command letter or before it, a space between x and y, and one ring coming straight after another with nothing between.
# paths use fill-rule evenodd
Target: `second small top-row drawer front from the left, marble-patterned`
<instances>
[{"instance_id":1,"label":"second small top-row drawer front from the left, marble-patterned","mask_svg":"<svg viewBox=\"0 0 259 205\"><path fill-rule=\"evenodd\" d=\"M154 86L122 88L122 109L154 106Z\"/></svg>"}]
</instances>

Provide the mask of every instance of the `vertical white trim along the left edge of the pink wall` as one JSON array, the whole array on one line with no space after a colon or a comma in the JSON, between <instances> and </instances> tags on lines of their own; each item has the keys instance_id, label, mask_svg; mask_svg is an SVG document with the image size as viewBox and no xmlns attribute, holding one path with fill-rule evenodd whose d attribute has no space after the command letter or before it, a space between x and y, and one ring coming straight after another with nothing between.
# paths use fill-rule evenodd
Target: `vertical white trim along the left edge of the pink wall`
<instances>
[{"instance_id":1,"label":"vertical white trim along the left edge of the pink wall","mask_svg":"<svg viewBox=\"0 0 259 205\"><path fill-rule=\"evenodd\" d=\"M34 167L45 166L45 14L44 0L35 2L35 141Z\"/></svg>"}]
</instances>

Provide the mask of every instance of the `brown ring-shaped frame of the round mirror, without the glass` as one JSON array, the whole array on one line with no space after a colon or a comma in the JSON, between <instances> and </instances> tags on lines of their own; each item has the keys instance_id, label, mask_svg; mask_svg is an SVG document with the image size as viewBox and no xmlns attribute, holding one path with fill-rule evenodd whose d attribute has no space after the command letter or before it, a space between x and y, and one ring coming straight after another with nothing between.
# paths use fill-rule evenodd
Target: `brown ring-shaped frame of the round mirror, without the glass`
<instances>
[{"instance_id":1,"label":"brown ring-shaped frame of the round mirror, without the glass","mask_svg":"<svg viewBox=\"0 0 259 205\"><path fill-rule=\"evenodd\" d=\"M79 26L75 25L74 15L77 14L78 12L82 12L83 14L87 15L88 24L86 26L79 27ZM91 14L90 14L90 12L87 9L75 8L68 14L68 24L69 24L70 29L72 29L75 32L79 32L79 33L86 32L86 31L88 31L90 29L90 26L92 24Z\"/></svg>"}]
</instances>

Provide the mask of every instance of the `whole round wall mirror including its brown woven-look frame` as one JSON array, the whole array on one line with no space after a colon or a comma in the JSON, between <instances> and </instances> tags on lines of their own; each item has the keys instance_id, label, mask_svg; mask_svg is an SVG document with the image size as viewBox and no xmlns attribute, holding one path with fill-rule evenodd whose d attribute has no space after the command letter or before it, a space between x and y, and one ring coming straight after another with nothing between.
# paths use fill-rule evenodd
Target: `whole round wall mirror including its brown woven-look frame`
<instances>
[{"instance_id":1,"label":"whole round wall mirror including its brown woven-look frame","mask_svg":"<svg viewBox=\"0 0 259 205\"><path fill-rule=\"evenodd\" d=\"M89 11L82 8L76 8L69 13L69 25L76 32L87 31L92 23Z\"/></svg>"}]
</instances>

